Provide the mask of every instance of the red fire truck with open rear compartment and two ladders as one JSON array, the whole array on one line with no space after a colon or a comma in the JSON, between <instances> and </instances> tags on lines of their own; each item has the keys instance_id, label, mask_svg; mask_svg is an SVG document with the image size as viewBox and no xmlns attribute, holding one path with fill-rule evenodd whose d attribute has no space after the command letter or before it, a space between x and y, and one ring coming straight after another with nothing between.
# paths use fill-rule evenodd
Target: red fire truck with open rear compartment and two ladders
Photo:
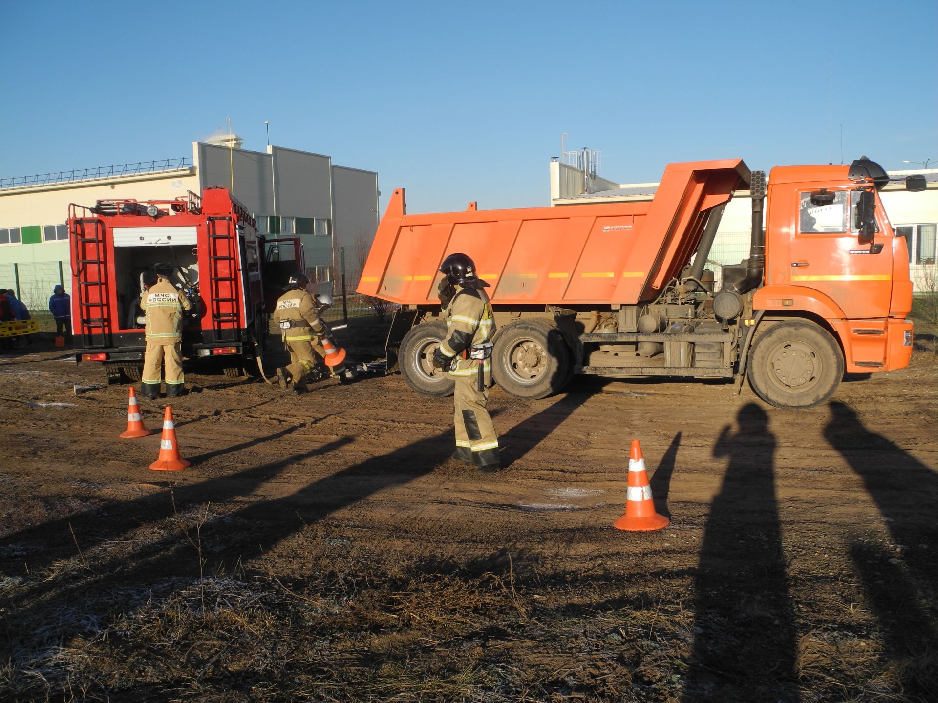
<instances>
[{"instance_id":1,"label":"red fire truck with open rear compartment and two ladders","mask_svg":"<svg viewBox=\"0 0 938 703\"><path fill-rule=\"evenodd\" d=\"M101 363L108 381L139 380L144 360L140 299L156 263L192 310L182 352L215 359L227 376L252 371L290 274L304 269L298 237L266 242L224 187L171 201L99 200L68 206L75 361Z\"/></svg>"}]
</instances>

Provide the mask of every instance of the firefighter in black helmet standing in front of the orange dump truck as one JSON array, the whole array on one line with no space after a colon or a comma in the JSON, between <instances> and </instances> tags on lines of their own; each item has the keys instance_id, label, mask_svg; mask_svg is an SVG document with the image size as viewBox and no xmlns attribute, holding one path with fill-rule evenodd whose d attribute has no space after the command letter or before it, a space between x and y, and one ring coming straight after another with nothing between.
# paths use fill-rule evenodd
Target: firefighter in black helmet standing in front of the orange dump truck
<instances>
[{"instance_id":1,"label":"firefighter in black helmet standing in front of the orange dump truck","mask_svg":"<svg viewBox=\"0 0 938 703\"><path fill-rule=\"evenodd\" d=\"M446 370L456 388L453 422L456 426L458 459L476 467L478 473L502 468L498 438L487 409L492 385L492 336L495 320L485 289L489 284L477 277L476 264L465 254L450 254L440 265L440 300L448 298L445 310L448 337L433 352L433 366ZM459 289L457 290L457 286Z\"/></svg>"}]
</instances>

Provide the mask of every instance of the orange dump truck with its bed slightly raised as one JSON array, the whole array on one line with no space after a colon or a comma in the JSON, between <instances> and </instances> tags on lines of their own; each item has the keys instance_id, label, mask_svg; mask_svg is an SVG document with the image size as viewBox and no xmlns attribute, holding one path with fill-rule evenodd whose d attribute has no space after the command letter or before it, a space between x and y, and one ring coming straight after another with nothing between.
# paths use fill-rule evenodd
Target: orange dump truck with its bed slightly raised
<instances>
[{"instance_id":1,"label":"orange dump truck with its bed slightly raised","mask_svg":"<svg viewBox=\"0 0 938 703\"><path fill-rule=\"evenodd\" d=\"M446 336L437 267L461 251L491 284L493 375L512 396L549 396L573 374L748 376L766 402L810 408L844 372L909 363L912 282L879 198L888 180L863 157L777 167L766 187L734 158L669 164L651 202L432 215L407 215L398 189L357 290L400 304L387 368L424 395L452 393L431 358ZM746 189L749 258L723 266L715 291L703 264Z\"/></svg>"}]
</instances>

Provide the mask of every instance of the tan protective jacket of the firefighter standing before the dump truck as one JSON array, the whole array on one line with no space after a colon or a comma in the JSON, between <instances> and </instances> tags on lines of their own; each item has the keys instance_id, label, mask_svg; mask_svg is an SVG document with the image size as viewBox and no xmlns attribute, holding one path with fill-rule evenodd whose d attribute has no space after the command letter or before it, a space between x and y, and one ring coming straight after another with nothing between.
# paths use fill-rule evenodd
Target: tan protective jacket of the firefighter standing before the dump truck
<instances>
[{"instance_id":1,"label":"tan protective jacket of the firefighter standing before the dump truck","mask_svg":"<svg viewBox=\"0 0 938 703\"><path fill-rule=\"evenodd\" d=\"M446 329L448 337L440 345L440 352L452 359L449 375L454 378L475 377L481 361L486 385L491 385L492 353L486 353L480 360L468 358L473 347L489 342L495 334L492 303L486 292L472 287L461 288L446 306ZM462 352L466 352L467 358L461 358Z\"/></svg>"}]
</instances>

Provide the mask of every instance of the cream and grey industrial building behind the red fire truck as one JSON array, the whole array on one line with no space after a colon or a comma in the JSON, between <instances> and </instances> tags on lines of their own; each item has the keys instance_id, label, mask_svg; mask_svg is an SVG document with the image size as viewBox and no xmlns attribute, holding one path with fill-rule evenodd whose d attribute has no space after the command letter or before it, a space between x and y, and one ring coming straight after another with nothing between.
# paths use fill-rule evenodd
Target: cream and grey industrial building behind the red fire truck
<instances>
[{"instance_id":1,"label":"cream and grey industrial building behind the red fire truck","mask_svg":"<svg viewBox=\"0 0 938 703\"><path fill-rule=\"evenodd\" d=\"M98 200L172 200L205 186L229 188L268 239L299 236L306 271L321 291L338 292L340 247L349 290L358 257L377 229L378 174L332 163L321 154L267 146L243 149L236 135L192 142L192 156L0 179L0 288L44 309L60 281L70 288L68 204Z\"/></svg>"}]
</instances>

